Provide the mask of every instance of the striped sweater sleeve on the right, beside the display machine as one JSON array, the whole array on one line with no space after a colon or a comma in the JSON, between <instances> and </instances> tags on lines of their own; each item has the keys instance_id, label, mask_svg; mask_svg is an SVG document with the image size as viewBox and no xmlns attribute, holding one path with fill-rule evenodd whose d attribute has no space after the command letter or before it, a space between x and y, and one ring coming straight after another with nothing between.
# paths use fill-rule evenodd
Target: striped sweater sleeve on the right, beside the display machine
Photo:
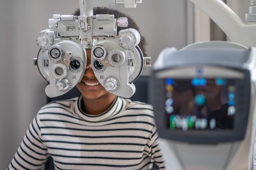
<instances>
[{"instance_id":1,"label":"striped sweater sleeve on the right, beside the display machine","mask_svg":"<svg viewBox=\"0 0 256 170\"><path fill-rule=\"evenodd\" d=\"M162 157L161 149L159 146L159 139L156 126L153 128L152 135L149 140L149 146L151 149L151 158L159 170L165 170L164 159Z\"/></svg>"}]
</instances>

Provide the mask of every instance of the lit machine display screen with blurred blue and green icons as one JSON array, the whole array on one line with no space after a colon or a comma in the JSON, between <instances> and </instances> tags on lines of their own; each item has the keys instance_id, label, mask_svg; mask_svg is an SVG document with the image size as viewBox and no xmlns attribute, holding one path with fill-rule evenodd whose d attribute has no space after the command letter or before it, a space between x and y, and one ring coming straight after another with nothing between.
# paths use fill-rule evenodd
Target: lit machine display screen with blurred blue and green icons
<instances>
[{"instance_id":1,"label":"lit machine display screen with blurred blue and green icons","mask_svg":"<svg viewBox=\"0 0 256 170\"><path fill-rule=\"evenodd\" d=\"M171 130L233 130L236 79L165 79L166 124Z\"/></svg>"}]
</instances>

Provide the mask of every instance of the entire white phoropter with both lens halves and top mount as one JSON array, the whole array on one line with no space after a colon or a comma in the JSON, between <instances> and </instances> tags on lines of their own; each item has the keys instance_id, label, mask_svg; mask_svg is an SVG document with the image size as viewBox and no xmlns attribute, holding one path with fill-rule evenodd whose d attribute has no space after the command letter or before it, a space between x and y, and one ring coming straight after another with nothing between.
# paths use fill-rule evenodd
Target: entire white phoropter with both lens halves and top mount
<instances>
[{"instance_id":1,"label":"entire white phoropter with both lens halves and top mount","mask_svg":"<svg viewBox=\"0 0 256 170\"><path fill-rule=\"evenodd\" d=\"M63 95L80 82L88 64L87 57L92 58L94 73L107 91L121 97L131 97L135 93L132 82L144 66L150 66L150 57L144 57L137 46L138 31L125 29L117 37L117 26L128 26L127 18L93 15L93 7L117 4L135 8L141 0L80 0L80 16L54 14L49 19L49 27L58 31L47 29L37 35L40 51L34 64L49 82L45 88L48 97ZM96 48L95 45L105 47ZM92 56L86 56L85 48L93 48ZM105 50L103 56L95 57L101 55L101 50Z\"/></svg>"}]
</instances>

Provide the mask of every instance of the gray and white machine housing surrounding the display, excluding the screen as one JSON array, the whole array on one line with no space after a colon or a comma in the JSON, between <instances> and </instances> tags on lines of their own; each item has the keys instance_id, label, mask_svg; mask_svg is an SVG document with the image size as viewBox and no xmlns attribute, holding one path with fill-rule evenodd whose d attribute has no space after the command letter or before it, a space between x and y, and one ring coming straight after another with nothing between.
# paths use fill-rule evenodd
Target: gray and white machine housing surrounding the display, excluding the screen
<instances>
[{"instance_id":1,"label":"gray and white machine housing surrounding the display, excluding the screen","mask_svg":"<svg viewBox=\"0 0 256 170\"><path fill-rule=\"evenodd\" d=\"M249 170L255 137L256 49L232 42L192 44L181 51L164 49L154 65L151 99L168 170ZM164 117L164 81L168 77L216 77L244 75L237 86L234 130L170 130ZM215 71L214 71L215 70ZM186 71L186 72L184 72ZM239 99L240 98L240 99Z\"/></svg>"}]
</instances>

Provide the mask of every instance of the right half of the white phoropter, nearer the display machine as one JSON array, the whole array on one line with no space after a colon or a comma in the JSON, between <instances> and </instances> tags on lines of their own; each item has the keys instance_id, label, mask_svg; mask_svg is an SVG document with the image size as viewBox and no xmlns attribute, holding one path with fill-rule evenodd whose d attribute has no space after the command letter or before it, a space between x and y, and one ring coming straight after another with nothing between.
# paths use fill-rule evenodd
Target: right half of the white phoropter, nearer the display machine
<instances>
[{"instance_id":1,"label":"right half of the white phoropter, nearer the display machine","mask_svg":"<svg viewBox=\"0 0 256 170\"><path fill-rule=\"evenodd\" d=\"M124 29L119 35L119 39L103 40L92 48L91 67L107 91L128 98L135 93L132 82L147 63L144 64L146 57L137 46L138 31Z\"/></svg>"}]
</instances>

